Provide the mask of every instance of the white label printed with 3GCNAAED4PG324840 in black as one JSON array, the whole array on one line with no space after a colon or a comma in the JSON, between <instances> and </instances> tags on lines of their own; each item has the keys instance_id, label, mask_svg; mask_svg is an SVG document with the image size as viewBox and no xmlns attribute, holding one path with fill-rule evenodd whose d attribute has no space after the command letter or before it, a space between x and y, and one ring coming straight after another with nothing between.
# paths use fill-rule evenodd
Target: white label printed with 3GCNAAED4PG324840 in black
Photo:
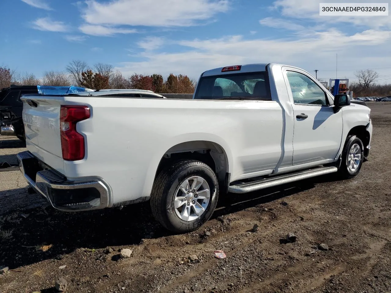
<instances>
[{"instance_id":1,"label":"white label printed with 3GCNAAED4PG324840 in black","mask_svg":"<svg viewBox=\"0 0 391 293\"><path fill-rule=\"evenodd\" d=\"M388 16L388 3L319 3L320 16Z\"/></svg>"}]
</instances>

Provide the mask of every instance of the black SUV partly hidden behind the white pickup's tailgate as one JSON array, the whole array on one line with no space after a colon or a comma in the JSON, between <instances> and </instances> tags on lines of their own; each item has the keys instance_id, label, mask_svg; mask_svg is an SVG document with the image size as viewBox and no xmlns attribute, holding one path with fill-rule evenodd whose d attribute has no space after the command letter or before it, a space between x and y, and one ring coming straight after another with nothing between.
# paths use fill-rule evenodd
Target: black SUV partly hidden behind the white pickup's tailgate
<instances>
[{"instance_id":1,"label":"black SUV partly hidden behind the white pickup's tailgate","mask_svg":"<svg viewBox=\"0 0 391 293\"><path fill-rule=\"evenodd\" d=\"M13 135L25 141L22 119L23 102L20 96L37 94L37 86L15 86L0 90L0 134Z\"/></svg>"}]
</instances>

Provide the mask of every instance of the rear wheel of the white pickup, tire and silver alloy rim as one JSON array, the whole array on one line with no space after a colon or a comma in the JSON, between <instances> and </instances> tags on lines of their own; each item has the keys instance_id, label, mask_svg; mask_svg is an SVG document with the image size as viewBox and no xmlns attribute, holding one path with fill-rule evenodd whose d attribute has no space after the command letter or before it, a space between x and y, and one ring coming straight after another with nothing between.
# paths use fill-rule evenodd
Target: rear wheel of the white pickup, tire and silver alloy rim
<instances>
[{"instance_id":1,"label":"rear wheel of the white pickup, tire and silver alloy rim","mask_svg":"<svg viewBox=\"0 0 391 293\"><path fill-rule=\"evenodd\" d=\"M218 197L219 184L215 172L200 161L181 160L156 177L150 202L154 218L163 227L185 233L199 229L209 220Z\"/></svg>"}]
</instances>

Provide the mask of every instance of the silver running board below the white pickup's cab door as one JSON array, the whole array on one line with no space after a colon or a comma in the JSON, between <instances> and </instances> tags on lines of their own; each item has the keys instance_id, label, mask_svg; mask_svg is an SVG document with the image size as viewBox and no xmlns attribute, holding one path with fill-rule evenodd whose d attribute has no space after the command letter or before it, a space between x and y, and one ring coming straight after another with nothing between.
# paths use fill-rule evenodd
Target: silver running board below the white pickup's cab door
<instances>
[{"instance_id":1,"label":"silver running board below the white pickup's cab door","mask_svg":"<svg viewBox=\"0 0 391 293\"><path fill-rule=\"evenodd\" d=\"M266 178L266 179L256 180L253 182L231 185L228 188L228 191L232 193L248 193L251 191L269 188L269 187L286 184L298 180L334 173L337 172L337 170L338 170L337 167L321 167L321 168L316 168L312 170L306 170L306 171L301 171L301 172L296 172L291 174L285 174L285 175L283 174L272 178Z\"/></svg>"}]
</instances>

